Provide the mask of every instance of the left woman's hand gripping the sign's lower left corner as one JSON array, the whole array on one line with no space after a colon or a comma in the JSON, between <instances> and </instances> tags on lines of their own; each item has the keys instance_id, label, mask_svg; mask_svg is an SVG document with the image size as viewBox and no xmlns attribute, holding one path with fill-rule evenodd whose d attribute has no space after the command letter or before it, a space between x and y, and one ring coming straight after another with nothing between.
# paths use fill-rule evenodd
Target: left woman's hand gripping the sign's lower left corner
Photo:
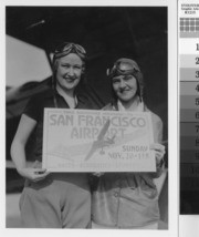
<instances>
[{"instance_id":1,"label":"left woman's hand gripping the sign's lower left corner","mask_svg":"<svg viewBox=\"0 0 199 237\"><path fill-rule=\"evenodd\" d=\"M39 182L43 178L45 178L50 173L46 172L46 169L44 168L21 168L20 171L18 171L20 173L20 175L22 175L23 177L32 181L32 182Z\"/></svg>"}]
</instances>

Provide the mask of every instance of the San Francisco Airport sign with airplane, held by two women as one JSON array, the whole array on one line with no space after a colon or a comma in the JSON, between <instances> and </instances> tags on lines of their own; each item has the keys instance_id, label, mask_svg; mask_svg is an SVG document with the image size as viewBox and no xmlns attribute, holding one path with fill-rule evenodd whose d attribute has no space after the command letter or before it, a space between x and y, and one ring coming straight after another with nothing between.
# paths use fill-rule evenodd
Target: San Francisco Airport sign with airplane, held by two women
<instances>
[{"instance_id":1,"label":"San Francisco Airport sign with airplane, held by two women","mask_svg":"<svg viewBox=\"0 0 199 237\"><path fill-rule=\"evenodd\" d=\"M45 109L50 172L155 172L150 113Z\"/></svg>"}]
</instances>

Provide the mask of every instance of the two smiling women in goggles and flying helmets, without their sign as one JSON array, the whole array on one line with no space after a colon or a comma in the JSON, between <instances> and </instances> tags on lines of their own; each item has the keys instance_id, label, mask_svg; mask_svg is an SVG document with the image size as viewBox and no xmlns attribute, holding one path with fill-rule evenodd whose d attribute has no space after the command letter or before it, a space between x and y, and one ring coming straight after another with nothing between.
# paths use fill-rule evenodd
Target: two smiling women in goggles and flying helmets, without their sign
<instances>
[{"instance_id":1,"label":"two smiling women in goggles and flying helmets, without their sign","mask_svg":"<svg viewBox=\"0 0 199 237\"><path fill-rule=\"evenodd\" d=\"M161 120L150 112L156 152L156 173L101 174L91 204L87 174L52 173L40 168L42 161L42 128L44 107L91 109L75 93L84 73L85 50L74 43L65 43L55 51L53 59L54 87L35 96L27 105L11 155L27 185L20 207L24 227L35 228L157 228L159 219L157 188L153 182L163 171L165 147ZM116 61L108 76L112 80L114 100L104 110L148 112L143 102L143 74L137 63L129 59ZM25 165L25 144L36 130L35 167Z\"/></svg>"}]
</instances>

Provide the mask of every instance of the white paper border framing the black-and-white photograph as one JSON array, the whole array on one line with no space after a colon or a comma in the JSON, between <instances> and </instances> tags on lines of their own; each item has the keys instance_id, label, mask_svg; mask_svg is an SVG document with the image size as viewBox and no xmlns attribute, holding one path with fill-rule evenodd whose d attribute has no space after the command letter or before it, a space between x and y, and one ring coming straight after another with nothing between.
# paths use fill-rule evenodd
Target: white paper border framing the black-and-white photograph
<instances>
[{"instance_id":1,"label":"white paper border framing the black-and-white photograph","mask_svg":"<svg viewBox=\"0 0 199 237\"><path fill-rule=\"evenodd\" d=\"M179 209L179 202L178 202L178 174L179 174L179 159L178 159L178 151L177 151L177 127L178 127L178 120L177 120L177 0L123 0L123 1L107 1L107 0L101 0L98 1L81 1L81 0L73 0L73 1L60 1L60 0L34 0L34 1L28 1L28 0L4 0L1 1L1 17L0 17L0 23L4 29L4 10L6 6L164 6L168 7L168 157L169 157L169 192L168 192L168 230L57 230L57 229L51 229L51 230L41 230L41 229L6 229L6 185L4 185L4 115L1 113L1 151L2 151L2 157L1 157L1 194L0 194L0 203L1 203L1 233L3 231L3 236L10 236L10 235L20 235L22 236L42 236L42 235L59 235L59 236L65 236L65 235L75 235L75 236L93 236L93 235L114 235L114 236L121 236L121 235L129 235L129 236L139 236L139 237L146 237L146 236L153 236L153 237L176 237L178 236L178 209ZM4 40L4 31L1 32L1 71L3 72L1 74L1 95L3 95L3 100L1 100L1 109L4 110L4 89L6 89L6 40Z\"/></svg>"}]
</instances>

